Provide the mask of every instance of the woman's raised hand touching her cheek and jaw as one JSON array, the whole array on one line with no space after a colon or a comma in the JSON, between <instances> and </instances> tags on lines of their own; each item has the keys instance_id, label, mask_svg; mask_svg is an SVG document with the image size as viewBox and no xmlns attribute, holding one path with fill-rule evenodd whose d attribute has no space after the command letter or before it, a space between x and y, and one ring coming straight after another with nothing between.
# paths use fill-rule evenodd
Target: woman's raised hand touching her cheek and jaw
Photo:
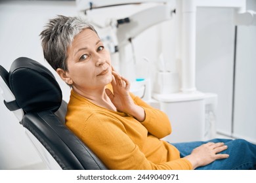
<instances>
[{"instance_id":1,"label":"woman's raised hand touching her cheek and jaw","mask_svg":"<svg viewBox=\"0 0 256 183\"><path fill-rule=\"evenodd\" d=\"M130 82L123 76L117 74L113 68L112 77L113 78L111 84L113 88L113 93L109 89L106 89L106 94L115 105L117 110L133 116L140 122L144 121L144 109L136 105L133 102L131 95L129 94L129 90L131 87Z\"/></svg>"}]
</instances>

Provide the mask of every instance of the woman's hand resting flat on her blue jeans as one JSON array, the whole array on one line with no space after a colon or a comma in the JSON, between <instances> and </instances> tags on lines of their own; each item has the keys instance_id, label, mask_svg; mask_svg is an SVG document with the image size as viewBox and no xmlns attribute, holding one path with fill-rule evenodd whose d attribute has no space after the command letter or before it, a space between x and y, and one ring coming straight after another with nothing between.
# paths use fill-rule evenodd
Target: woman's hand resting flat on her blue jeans
<instances>
[{"instance_id":1,"label":"woman's hand resting flat on her blue jeans","mask_svg":"<svg viewBox=\"0 0 256 183\"><path fill-rule=\"evenodd\" d=\"M218 154L227 148L228 146L223 142L207 142L206 144L202 144L201 146L194 148L192 153L184 158L190 161L193 169L196 169L197 167L208 165L216 159L228 158L228 154Z\"/></svg>"}]
</instances>

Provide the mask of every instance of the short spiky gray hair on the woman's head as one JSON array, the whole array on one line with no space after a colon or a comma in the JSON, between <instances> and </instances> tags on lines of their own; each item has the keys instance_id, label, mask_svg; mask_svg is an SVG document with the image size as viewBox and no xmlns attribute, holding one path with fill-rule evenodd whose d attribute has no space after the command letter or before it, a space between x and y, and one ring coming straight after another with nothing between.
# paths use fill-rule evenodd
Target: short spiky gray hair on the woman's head
<instances>
[{"instance_id":1,"label":"short spiky gray hair on the woman's head","mask_svg":"<svg viewBox=\"0 0 256 183\"><path fill-rule=\"evenodd\" d=\"M66 64L68 47L83 29L91 29L98 35L93 25L79 16L58 15L45 25L45 29L40 34L43 55L55 71L58 68L68 71Z\"/></svg>"}]
</instances>

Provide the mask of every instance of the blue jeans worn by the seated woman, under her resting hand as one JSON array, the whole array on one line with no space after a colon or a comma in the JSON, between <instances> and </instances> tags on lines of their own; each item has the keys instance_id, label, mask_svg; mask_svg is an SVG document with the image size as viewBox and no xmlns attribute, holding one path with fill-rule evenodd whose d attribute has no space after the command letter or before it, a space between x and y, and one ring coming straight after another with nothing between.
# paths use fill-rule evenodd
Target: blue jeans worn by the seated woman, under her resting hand
<instances>
[{"instance_id":1,"label":"blue jeans worn by the seated woman, under her resting hand","mask_svg":"<svg viewBox=\"0 0 256 183\"><path fill-rule=\"evenodd\" d=\"M213 139L205 142L172 143L181 154L181 158L191 154L192 150L206 142L224 142L228 149L223 154L229 154L226 159L217 159L196 170L256 170L256 144L243 139Z\"/></svg>"}]
</instances>

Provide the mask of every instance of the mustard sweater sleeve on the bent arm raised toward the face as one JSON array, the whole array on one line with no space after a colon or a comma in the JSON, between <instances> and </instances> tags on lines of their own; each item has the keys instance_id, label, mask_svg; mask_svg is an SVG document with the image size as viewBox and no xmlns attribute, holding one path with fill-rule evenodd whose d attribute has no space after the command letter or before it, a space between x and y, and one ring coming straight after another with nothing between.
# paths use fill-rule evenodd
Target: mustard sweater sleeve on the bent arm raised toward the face
<instances>
[{"instance_id":1,"label":"mustard sweater sleeve on the bent arm raised toward the face","mask_svg":"<svg viewBox=\"0 0 256 183\"><path fill-rule=\"evenodd\" d=\"M148 129L149 133L158 137L159 139L171 134L171 123L167 114L161 110L151 107L142 101L142 99L133 95L133 93L131 93L131 97L137 105L144 108L146 118L144 122L141 122L141 124Z\"/></svg>"}]
</instances>

